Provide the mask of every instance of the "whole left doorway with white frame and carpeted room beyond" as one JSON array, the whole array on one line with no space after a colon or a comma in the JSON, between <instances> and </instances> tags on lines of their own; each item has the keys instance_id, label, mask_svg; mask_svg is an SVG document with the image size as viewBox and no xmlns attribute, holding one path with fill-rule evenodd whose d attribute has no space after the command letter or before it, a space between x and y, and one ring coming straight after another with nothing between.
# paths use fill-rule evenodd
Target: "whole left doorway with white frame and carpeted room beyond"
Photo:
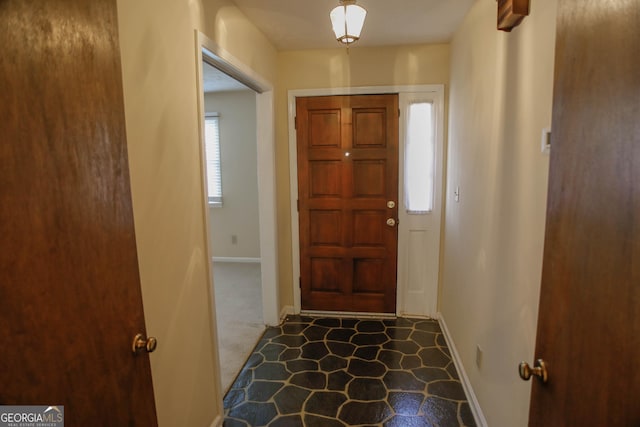
<instances>
[{"instance_id":1,"label":"whole left doorway with white frame and carpeted room beyond","mask_svg":"<svg viewBox=\"0 0 640 427\"><path fill-rule=\"evenodd\" d=\"M196 32L204 220L221 390L279 323L271 86Z\"/></svg>"}]
</instances>

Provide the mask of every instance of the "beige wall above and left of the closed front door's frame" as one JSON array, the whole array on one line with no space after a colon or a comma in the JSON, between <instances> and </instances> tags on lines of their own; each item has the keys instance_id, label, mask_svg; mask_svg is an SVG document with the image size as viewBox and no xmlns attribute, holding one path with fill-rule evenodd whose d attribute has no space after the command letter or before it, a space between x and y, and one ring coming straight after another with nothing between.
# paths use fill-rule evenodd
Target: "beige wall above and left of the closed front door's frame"
<instances>
[{"instance_id":1,"label":"beige wall above and left of the closed front door's frame","mask_svg":"<svg viewBox=\"0 0 640 427\"><path fill-rule=\"evenodd\" d=\"M353 47L280 52L276 92L278 255L281 307L293 305L287 91L447 84L449 46Z\"/></svg>"}]
</instances>

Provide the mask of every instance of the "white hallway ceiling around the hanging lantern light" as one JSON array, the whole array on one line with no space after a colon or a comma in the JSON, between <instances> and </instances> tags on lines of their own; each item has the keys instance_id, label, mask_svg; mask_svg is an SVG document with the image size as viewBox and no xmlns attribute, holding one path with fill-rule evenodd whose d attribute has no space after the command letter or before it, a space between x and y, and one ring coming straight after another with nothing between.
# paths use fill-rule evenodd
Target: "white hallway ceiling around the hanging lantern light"
<instances>
[{"instance_id":1,"label":"white hallway ceiling around the hanging lantern light","mask_svg":"<svg viewBox=\"0 0 640 427\"><path fill-rule=\"evenodd\" d=\"M278 50L339 47L338 0L233 0ZM475 0L357 0L367 17L356 46L448 42Z\"/></svg>"}]
</instances>

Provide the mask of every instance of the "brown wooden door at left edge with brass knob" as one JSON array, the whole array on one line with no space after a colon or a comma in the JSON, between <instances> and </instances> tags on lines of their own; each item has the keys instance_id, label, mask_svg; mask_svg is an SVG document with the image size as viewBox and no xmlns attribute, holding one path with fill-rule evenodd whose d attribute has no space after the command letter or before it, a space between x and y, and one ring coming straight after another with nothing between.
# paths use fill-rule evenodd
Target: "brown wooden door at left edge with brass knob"
<instances>
[{"instance_id":1,"label":"brown wooden door at left edge with brass knob","mask_svg":"<svg viewBox=\"0 0 640 427\"><path fill-rule=\"evenodd\" d=\"M156 426L116 0L0 1L0 404Z\"/></svg>"}]
</instances>

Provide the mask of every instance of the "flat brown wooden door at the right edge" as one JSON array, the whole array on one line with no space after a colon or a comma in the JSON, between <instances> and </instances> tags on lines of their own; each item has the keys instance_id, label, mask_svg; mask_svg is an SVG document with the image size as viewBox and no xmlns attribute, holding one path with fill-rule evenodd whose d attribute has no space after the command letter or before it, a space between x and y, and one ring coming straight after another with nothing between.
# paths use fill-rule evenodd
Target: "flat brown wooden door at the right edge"
<instances>
[{"instance_id":1,"label":"flat brown wooden door at the right edge","mask_svg":"<svg viewBox=\"0 0 640 427\"><path fill-rule=\"evenodd\" d=\"M640 2L560 0L531 426L640 426Z\"/></svg>"}]
</instances>

